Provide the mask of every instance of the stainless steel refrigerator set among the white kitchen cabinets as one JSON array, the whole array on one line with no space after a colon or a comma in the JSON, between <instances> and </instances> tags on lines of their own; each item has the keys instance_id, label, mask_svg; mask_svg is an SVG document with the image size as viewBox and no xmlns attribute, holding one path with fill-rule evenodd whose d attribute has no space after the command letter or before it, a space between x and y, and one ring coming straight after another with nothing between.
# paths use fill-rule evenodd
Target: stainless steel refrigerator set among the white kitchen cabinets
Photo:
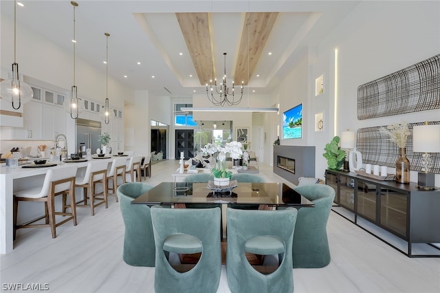
<instances>
[{"instance_id":1,"label":"stainless steel refrigerator set among the white kitchen cabinets","mask_svg":"<svg viewBox=\"0 0 440 293\"><path fill-rule=\"evenodd\" d=\"M98 138L101 134L101 122L87 119L76 119L76 151L81 144L85 144L86 149L91 149L91 153L96 153L96 149L101 147Z\"/></svg>"}]
</instances>

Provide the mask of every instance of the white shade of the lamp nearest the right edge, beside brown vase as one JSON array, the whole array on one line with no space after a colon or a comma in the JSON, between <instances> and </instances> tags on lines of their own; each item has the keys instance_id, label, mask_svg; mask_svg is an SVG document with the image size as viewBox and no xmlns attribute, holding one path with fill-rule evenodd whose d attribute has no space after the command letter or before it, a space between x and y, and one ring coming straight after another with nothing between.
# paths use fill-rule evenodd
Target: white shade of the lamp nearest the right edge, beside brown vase
<instances>
[{"instance_id":1,"label":"white shade of the lamp nearest the right edge, beside brown vase","mask_svg":"<svg viewBox=\"0 0 440 293\"><path fill-rule=\"evenodd\" d=\"M417 125L412 127L412 151L440 153L440 125Z\"/></svg>"}]
</instances>

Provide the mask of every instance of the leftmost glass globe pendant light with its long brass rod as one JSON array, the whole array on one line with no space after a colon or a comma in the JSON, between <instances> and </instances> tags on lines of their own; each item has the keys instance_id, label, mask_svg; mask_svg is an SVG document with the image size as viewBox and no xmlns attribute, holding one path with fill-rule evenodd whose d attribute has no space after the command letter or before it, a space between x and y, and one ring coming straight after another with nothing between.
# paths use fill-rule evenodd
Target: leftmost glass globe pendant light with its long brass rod
<instances>
[{"instance_id":1,"label":"leftmost glass globe pendant light with its long brass rod","mask_svg":"<svg viewBox=\"0 0 440 293\"><path fill-rule=\"evenodd\" d=\"M21 104L30 102L34 91L30 85L19 79L17 58L17 1L14 1L14 63L12 63L12 78L0 83L0 96L3 100L12 102L12 108L20 109Z\"/></svg>"}]
</instances>

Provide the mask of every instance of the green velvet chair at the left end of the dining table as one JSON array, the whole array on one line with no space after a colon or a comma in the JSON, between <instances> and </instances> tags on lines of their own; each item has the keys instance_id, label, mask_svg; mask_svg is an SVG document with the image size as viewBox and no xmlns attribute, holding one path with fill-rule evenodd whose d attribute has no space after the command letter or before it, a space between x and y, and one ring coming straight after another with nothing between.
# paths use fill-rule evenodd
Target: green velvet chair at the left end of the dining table
<instances>
[{"instance_id":1,"label":"green velvet chair at the left end of the dining table","mask_svg":"<svg viewBox=\"0 0 440 293\"><path fill-rule=\"evenodd\" d=\"M118 187L120 210L124 220L122 259L129 265L154 267L155 245L150 207L131 201L154 186L144 182L128 182Z\"/></svg>"}]
</instances>

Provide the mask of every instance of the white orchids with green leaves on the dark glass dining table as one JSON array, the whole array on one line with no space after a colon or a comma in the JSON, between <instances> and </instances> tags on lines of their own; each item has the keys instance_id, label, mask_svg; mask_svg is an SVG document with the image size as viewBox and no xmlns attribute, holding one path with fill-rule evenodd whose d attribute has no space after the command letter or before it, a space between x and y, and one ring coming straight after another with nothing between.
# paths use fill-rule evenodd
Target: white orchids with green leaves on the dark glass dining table
<instances>
[{"instance_id":1,"label":"white orchids with green leaves on the dark glass dining table","mask_svg":"<svg viewBox=\"0 0 440 293\"><path fill-rule=\"evenodd\" d=\"M208 143L201 148L201 151L210 155L219 153L217 156L217 165L215 168L212 168L212 174L217 178L230 178L232 172L226 171L226 154L229 153L230 157L234 160L239 159L241 155L243 155L242 147L241 142L236 141L228 142L225 146Z\"/></svg>"}]
</instances>

